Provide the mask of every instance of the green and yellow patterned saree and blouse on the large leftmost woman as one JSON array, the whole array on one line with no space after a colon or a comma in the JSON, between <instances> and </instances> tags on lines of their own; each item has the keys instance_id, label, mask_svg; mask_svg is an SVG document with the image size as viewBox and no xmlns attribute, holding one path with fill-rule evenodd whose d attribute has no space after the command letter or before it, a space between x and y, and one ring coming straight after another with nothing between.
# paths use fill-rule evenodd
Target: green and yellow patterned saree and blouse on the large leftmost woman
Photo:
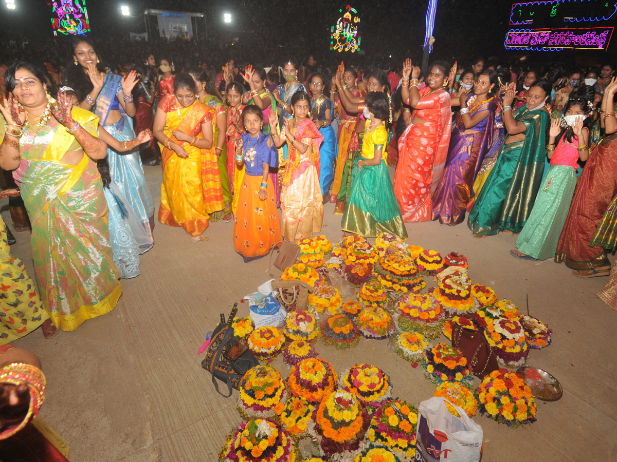
<instances>
[{"instance_id":1,"label":"green and yellow patterned saree and blouse on the large leftmost woman","mask_svg":"<svg viewBox=\"0 0 617 462\"><path fill-rule=\"evenodd\" d=\"M98 137L99 118L73 108L73 118ZM0 137L4 134L0 118ZM107 201L96 164L87 155L62 163L80 149L56 119L20 139L22 160L13 172L32 223L36 283L56 327L75 330L116 306L122 290L107 227Z\"/></svg>"}]
</instances>

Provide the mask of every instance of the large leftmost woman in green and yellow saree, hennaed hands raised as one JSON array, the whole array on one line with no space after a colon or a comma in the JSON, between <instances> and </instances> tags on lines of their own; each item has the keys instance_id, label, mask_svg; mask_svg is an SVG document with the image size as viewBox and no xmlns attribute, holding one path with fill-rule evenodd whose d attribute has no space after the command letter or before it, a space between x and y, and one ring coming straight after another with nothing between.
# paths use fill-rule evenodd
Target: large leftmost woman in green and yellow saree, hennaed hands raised
<instances>
[{"instance_id":1,"label":"large leftmost woman in green and yellow saree, hennaed hands raised","mask_svg":"<svg viewBox=\"0 0 617 462\"><path fill-rule=\"evenodd\" d=\"M106 156L107 145L98 139L99 118L72 108L62 91L56 102L43 78L25 62L7 70L12 93L0 107L0 167L16 169L43 307L56 329L74 330L114 309L122 293L93 162Z\"/></svg>"}]
</instances>

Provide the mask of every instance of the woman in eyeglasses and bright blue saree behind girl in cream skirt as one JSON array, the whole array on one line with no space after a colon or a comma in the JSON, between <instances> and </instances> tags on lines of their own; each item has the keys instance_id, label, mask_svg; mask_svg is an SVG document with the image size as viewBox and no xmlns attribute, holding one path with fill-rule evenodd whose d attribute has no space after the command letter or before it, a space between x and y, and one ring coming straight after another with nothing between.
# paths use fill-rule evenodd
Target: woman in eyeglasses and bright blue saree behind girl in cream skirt
<instances>
[{"instance_id":1,"label":"woman in eyeglasses and bright blue saree behind girl in cream skirt","mask_svg":"<svg viewBox=\"0 0 617 462\"><path fill-rule=\"evenodd\" d=\"M321 73L314 73L309 82L313 97L310 100L310 119L315 123L319 132L323 135L323 143L320 147L320 177L319 185L323 203L330 200L330 186L334 180L334 161L338 153L336 132L332 128L332 111L334 103L326 98L323 89L326 78Z\"/></svg>"}]
</instances>

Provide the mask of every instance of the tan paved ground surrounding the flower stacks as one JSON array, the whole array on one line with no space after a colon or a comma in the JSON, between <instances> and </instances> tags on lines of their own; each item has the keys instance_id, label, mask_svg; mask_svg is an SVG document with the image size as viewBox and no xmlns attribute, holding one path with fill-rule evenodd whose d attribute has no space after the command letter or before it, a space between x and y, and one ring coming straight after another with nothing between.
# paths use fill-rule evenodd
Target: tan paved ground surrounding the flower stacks
<instances>
[{"instance_id":1,"label":"tan paved ground surrounding the flower stacks","mask_svg":"<svg viewBox=\"0 0 617 462\"><path fill-rule=\"evenodd\" d=\"M145 170L158 204L160 167ZM10 224L6 200L2 205ZM332 213L333 205L326 205L322 233L336 241L342 236L340 216ZM238 392L228 399L218 395L196 352L218 314L268 279L268 259L244 264L234 253L232 229L212 224L210 239L194 243L181 229L157 224L142 274L122 280L114 311L52 340L39 330L14 343L43 362L48 393L41 415L67 440L71 461L217 460L226 434L240 420ZM516 240L511 235L478 240L466 225L437 222L407 229L410 243L465 254L473 282L491 286L521 310L529 295L531 314L554 331L552 345L531 351L528 364L555 375L563 398L538 401L537 422L524 428L474 417L484 430L483 460L616 461L617 354L611 339L617 312L595 296L607 278L583 280L565 265L515 259L508 254ZM15 235L12 252L33 275L29 233ZM247 315L246 304L239 315ZM391 375L394 395L413 405L433 395L422 368L389 351L386 340L363 339L346 352L318 342L317 351L339 372L357 362L374 363ZM274 365L288 373L281 359Z\"/></svg>"}]
</instances>

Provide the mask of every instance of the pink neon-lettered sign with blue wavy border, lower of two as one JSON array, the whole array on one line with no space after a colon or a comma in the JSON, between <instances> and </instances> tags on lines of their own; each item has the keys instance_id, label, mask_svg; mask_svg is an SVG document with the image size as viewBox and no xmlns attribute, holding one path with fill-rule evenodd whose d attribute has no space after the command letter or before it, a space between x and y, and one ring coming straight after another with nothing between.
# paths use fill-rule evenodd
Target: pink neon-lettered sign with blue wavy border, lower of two
<instances>
[{"instance_id":1,"label":"pink neon-lettered sign with blue wavy border, lower of two","mask_svg":"<svg viewBox=\"0 0 617 462\"><path fill-rule=\"evenodd\" d=\"M561 51L569 48L607 50L613 27L577 29L512 29L503 43L508 50Z\"/></svg>"}]
</instances>

